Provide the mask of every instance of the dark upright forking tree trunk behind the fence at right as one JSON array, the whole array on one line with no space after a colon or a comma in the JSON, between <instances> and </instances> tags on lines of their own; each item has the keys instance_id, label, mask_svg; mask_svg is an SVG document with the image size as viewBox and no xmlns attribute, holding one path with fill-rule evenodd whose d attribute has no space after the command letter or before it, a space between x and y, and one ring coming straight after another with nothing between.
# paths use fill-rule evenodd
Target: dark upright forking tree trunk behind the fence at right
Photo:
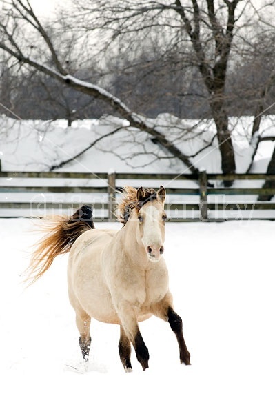
<instances>
[{"instance_id":1,"label":"dark upright forking tree trunk behind the fence at right","mask_svg":"<svg viewBox=\"0 0 275 414\"><path fill-rule=\"evenodd\" d=\"M201 39L201 22L203 9L199 6L197 0L192 0L193 21L187 14L187 6L181 4L181 0L176 0L176 12L178 12L183 21L185 31L187 32L194 52L196 52L198 70L201 72L203 82L210 94L210 108L212 117L216 124L218 148L221 151L221 169L223 173L230 174L236 170L234 149L230 130L228 129L228 115L225 111L225 81L227 76L227 63L230 55L230 48L233 39L234 13L240 0L227 1L227 24L223 28L221 21L217 18L214 6L214 0L207 0L207 17L212 30L212 41L214 41L215 60L212 65L207 59L207 48L203 47ZM186 3L186 2L185 2ZM203 3L203 2L202 2ZM233 181L223 181L226 187L232 186Z\"/></svg>"}]
</instances>

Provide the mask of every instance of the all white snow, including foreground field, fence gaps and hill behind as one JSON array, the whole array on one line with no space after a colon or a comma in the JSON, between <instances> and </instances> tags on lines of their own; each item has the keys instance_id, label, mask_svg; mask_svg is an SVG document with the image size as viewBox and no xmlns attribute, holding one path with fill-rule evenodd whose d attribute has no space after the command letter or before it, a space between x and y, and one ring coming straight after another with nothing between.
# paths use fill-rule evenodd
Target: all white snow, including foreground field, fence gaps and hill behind
<instances>
[{"instance_id":1,"label":"all white snow, including foreground field, fence gaps and hill behind","mask_svg":"<svg viewBox=\"0 0 275 414\"><path fill-rule=\"evenodd\" d=\"M214 136L209 121L197 124L162 114L146 122L169 135L190 155ZM196 130L191 132L194 125ZM233 139L237 172L244 172L253 150L247 140L252 119L230 119L230 125L236 126ZM265 119L262 125L261 135L271 135L274 117ZM124 129L113 134L119 127ZM72 128L67 128L65 120L19 123L1 116L0 131L2 170L48 170L110 134L62 170L187 172L175 159L157 159L156 155L163 157L165 152L144 132L115 117L74 121ZM216 147L214 139L210 148L194 157L198 168L221 171ZM266 171L273 149L272 142L259 145L253 172ZM0 181L2 185L17 186L20 180L10 177L8 184L5 179ZM93 179L79 185L96 182L102 184ZM54 185L51 183L47 185ZM62 180L62 185L70 184L72 180ZM133 180L118 181L117 185L121 184L143 185ZM173 186L180 184L177 181ZM184 184L195 186L192 181ZM248 183L238 182L241 185ZM259 185L261 182L252 183ZM3 192L1 197L24 201L27 195ZM63 195L53 193L32 197L37 202L65 201ZM70 197L71 202L79 202L84 195ZM213 195L212 200L228 201L221 197ZM238 196L232 197L239 200ZM255 196L245 200L253 202ZM102 198L93 201L101 202ZM183 196L183 201L190 199ZM274 221L167 223L164 255L192 366L179 364L174 334L165 322L152 317L140 324L150 351L150 368L143 372L133 352L134 371L127 374L119 360L119 328L94 320L88 372L81 371L79 333L67 295L68 255L57 257L30 288L22 284L32 245L41 237L32 231L34 224L30 219L0 219L1 411L274 414ZM120 226L96 223L97 228Z\"/></svg>"}]
</instances>

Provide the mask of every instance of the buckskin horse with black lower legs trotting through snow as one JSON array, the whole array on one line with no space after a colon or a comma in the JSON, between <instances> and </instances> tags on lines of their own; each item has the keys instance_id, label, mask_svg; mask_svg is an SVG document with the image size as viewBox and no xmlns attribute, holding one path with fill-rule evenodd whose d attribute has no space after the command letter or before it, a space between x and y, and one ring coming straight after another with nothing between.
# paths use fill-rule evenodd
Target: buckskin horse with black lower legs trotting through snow
<instances>
[{"instance_id":1,"label":"buckskin horse with black lower legs trotting through snow","mask_svg":"<svg viewBox=\"0 0 275 414\"><path fill-rule=\"evenodd\" d=\"M143 371L149 352L139 322L152 315L170 324L179 344L181 364L190 365L183 337L183 323L173 307L168 272L163 258L165 239L165 188L122 190L118 205L120 230L94 228L92 208L84 205L71 217L50 221L49 234L32 255L30 283L52 264L54 257L68 253L68 295L76 314L79 346L88 364L90 322L120 326L119 356L126 372L132 371L131 344Z\"/></svg>"}]
</instances>

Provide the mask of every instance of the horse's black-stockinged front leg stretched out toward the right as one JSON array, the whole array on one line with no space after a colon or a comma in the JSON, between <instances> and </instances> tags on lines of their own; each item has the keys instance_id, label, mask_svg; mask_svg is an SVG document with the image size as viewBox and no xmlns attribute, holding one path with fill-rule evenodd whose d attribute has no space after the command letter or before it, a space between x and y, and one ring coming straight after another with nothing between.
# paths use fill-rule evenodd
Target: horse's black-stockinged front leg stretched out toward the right
<instances>
[{"instance_id":1,"label":"horse's black-stockinged front leg stretched out toward the right","mask_svg":"<svg viewBox=\"0 0 275 414\"><path fill-rule=\"evenodd\" d=\"M154 304L151 307L151 311L157 317L165 320L165 322L169 322L170 328L175 333L179 344L179 357L181 364L190 365L190 353L183 337L183 321L174 311L171 293L168 293L161 300L161 302Z\"/></svg>"}]
</instances>

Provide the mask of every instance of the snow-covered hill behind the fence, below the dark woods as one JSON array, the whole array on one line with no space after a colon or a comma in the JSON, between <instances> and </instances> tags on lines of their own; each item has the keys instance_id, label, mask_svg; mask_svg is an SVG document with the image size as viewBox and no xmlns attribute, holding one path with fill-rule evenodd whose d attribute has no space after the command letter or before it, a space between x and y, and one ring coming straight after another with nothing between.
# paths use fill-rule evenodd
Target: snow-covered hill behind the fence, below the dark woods
<instances>
[{"instance_id":1,"label":"snow-covered hill behind the fence, below the dark woods","mask_svg":"<svg viewBox=\"0 0 275 414\"><path fill-rule=\"evenodd\" d=\"M147 119L157 126L186 155L194 155L210 144L215 130L210 121L181 120L169 114ZM252 148L247 137L252 118L230 119L236 153L236 172L245 172ZM275 117L267 117L261 134L270 134ZM196 126L194 130L191 127ZM119 129L121 128L121 129ZM116 131L116 132L114 132ZM0 117L0 158L2 170L48 171L63 161L74 158L58 170L77 172L189 172L178 159L170 158L144 132L128 127L127 121L115 117L74 121L68 128L66 121L17 121ZM91 146L83 155L77 156ZM254 172L265 172L274 144L261 143L256 156ZM192 158L198 168L207 172L221 172L218 143Z\"/></svg>"}]
</instances>

